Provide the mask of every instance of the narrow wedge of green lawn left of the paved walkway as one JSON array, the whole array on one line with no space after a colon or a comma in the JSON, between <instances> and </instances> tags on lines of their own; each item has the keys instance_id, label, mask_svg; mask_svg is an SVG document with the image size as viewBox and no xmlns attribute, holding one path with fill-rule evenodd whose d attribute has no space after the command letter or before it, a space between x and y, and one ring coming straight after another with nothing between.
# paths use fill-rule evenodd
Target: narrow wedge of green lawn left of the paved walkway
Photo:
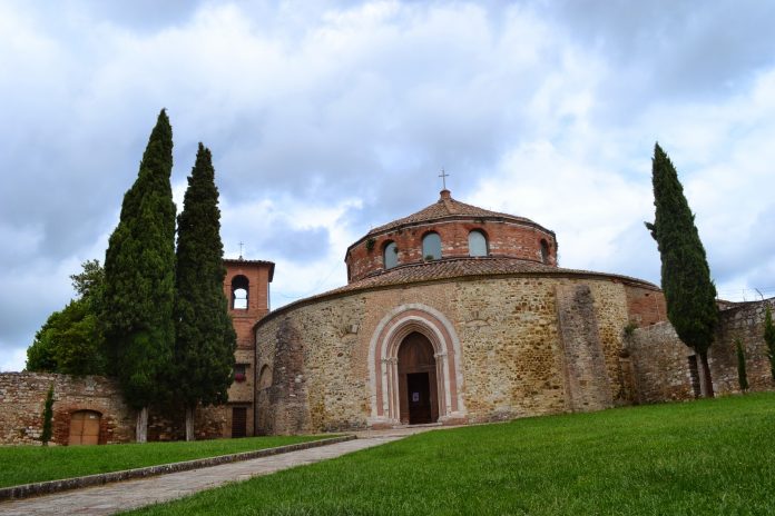
<instances>
[{"instance_id":1,"label":"narrow wedge of green lawn left of the paved walkway","mask_svg":"<svg viewBox=\"0 0 775 516\"><path fill-rule=\"evenodd\" d=\"M249 437L107 446L3 446L0 447L0 487L237 454L325 437L328 436Z\"/></svg>"}]
</instances>

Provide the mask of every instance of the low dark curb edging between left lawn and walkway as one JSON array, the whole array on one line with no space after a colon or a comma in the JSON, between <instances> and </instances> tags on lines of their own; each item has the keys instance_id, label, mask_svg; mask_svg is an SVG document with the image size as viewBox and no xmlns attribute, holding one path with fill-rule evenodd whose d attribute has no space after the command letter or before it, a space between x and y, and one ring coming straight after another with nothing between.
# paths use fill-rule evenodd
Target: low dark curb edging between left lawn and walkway
<instances>
[{"instance_id":1,"label":"low dark curb edging between left lawn and walkway","mask_svg":"<svg viewBox=\"0 0 775 516\"><path fill-rule=\"evenodd\" d=\"M0 488L0 500L29 498L32 496L49 495L62 490L80 489L82 487L91 486L101 486L104 484L129 480L133 478L166 475L168 473L177 472L187 472L189 469L199 469L204 467L218 466L220 464L237 463L239 460L249 460L252 458L269 457L272 455L286 454L288 452L297 452L300 449L317 448L321 446L345 443L347 440L353 439L355 439L354 435L345 435L341 437L332 437L330 439L311 440L308 443L277 446L276 448L256 449L254 452L243 452L241 454L219 455L217 457L185 460L183 463L159 464L157 466L125 469L122 472L100 473L97 475L87 475L84 477L62 478L61 480L39 482L35 484L22 484L20 486L2 487Z\"/></svg>"}]
</instances>

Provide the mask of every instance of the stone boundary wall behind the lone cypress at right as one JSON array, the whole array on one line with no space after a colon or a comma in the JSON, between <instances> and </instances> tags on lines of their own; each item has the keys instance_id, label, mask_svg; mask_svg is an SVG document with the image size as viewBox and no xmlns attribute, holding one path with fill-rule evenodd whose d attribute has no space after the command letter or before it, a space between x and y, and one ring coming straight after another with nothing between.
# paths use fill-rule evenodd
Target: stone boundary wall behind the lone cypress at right
<instances>
[{"instance_id":1,"label":"stone boundary wall behind the lone cypress at right","mask_svg":"<svg viewBox=\"0 0 775 516\"><path fill-rule=\"evenodd\" d=\"M740 391L735 350L737 338L746 355L749 389L775 388L764 343L764 314L767 305L775 311L775 298L772 298L735 304L720 312L714 344L708 351L713 387L717 395ZM632 363L637 401L695 398L689 370L689 357L695 353L678 339L669 322L636 329L626 340L626 353Z\"/></svg>"}]
</instances>

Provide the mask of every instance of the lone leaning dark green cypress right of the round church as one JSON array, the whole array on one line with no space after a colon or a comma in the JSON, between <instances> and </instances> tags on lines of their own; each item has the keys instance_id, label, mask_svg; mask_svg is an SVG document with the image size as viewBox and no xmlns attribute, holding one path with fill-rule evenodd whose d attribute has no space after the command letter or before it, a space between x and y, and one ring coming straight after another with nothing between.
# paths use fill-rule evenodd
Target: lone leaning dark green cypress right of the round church
<instances>
[{"instance_id":1,"label":"lone leaning dark green cypress right of the round church","mask_svg":"<svg viewBox=\"0 0 775 516\"><path fill-rule=\"evenodd\" d=\"M667 318L684 344L699 356L703 390L713 397L708 348L718 321L716 287L678 173L659 143L654 147L651 165L656 217L646 227L659 247Z\"/></svg>"}]
</instances>

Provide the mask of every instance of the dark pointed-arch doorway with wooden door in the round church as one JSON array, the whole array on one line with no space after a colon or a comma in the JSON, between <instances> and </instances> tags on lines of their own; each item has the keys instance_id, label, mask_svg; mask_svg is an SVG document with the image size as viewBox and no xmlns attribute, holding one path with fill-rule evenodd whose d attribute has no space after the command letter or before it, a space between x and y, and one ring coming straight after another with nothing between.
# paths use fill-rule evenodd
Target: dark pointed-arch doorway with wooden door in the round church
<instances>
[{"instance_id":1,"label":"dark pointed-arch doorway with wooden door in the round church","mask_svg":"<svg viewBox=\"0 0 775 516\"><path fill-rule=\"evenodd\" d=\"M433 345L413 331L399 347L399 403L401 423L421 425L439 420L439 394Z\"/></svg>"}]
</instances>

